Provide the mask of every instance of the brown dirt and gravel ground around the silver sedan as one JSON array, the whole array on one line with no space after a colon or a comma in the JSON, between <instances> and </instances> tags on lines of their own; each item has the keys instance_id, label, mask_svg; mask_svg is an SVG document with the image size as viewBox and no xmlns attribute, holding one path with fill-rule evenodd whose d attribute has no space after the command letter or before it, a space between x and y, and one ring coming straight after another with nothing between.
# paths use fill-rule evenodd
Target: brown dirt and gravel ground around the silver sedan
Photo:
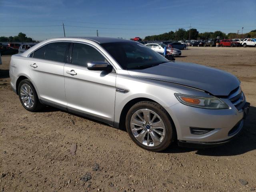
<instances>
[{"instance_id":1,"label":"brown dirt and gravel ground around the silver sedan","mask_svg":"<svg viewBox=\"0 0 256 192\"><path fill-rule=\"evenodd\" d=\"M148 152L124 130L46 107L26 111L10 88L10 56L0 65L0 190L209 191L256 189L256 48L182 50L176 61L219 68L242 82L250 114L242 134L224 146ZM217 77L216 77L217 78ZM74 156L72 144L77 144Z\"/></svg>"}]
</instances>

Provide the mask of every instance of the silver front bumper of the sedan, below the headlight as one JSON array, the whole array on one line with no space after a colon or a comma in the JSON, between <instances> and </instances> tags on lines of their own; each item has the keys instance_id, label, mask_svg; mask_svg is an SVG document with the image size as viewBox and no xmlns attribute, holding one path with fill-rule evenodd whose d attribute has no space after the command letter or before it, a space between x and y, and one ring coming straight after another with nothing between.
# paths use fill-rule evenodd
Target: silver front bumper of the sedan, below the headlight
<instances>
[{"instance_id":1,"label":"silver front bumper of the sedan, below the headlight","mask_svg":"<svg viewBox=\"0 0 256 192\"><path fill-rule=\"evenodd\" d=\"M232 103L229 109L209 110L178 103L166 108L176 127L179 146L207 148L229 142L243 127L243 118L248 114L249 103L237 110ZM192 134L190 128L213 129L205 134Z\"/></svg>"}]
</instances>

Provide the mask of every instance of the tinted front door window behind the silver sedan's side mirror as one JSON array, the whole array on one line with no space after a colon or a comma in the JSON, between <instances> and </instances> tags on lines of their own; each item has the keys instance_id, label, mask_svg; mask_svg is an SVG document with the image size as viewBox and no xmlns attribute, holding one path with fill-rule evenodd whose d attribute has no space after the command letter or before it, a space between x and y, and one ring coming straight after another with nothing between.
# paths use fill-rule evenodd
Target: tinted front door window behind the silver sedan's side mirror
<instances>
[{"instance_id":1,"label":"tinted front door window behind the silver sedan's side mirror","mask_svg":"<svg viewBox=\"0 0 256 192\"><path fill-rule=\"evenodd\" d=\"M88 63L97 61L107 62L104 56L92 46L82 43L74 43L71 64L87 67Z\"/></svg>"}]
</instances>

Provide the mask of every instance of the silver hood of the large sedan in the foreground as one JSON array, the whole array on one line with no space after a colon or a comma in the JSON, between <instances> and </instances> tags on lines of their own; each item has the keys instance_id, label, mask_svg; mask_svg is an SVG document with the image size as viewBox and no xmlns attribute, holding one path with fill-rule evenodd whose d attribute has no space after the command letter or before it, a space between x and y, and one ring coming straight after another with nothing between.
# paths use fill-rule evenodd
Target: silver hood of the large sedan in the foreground
<instances>
[{"instance_id":1,"label":"silver hood of the large sedan in the foreground","mask_svg":"<svg viewBox=\"0 0 256 192\"><path fill-rule=\"evenodd\" d=\"M168 62L142 70L128 70L128 73L131 76L198 88L215 96L228 96L240 85L236 76L228 72L183 62Z\"/></svg>"}]
</instances>

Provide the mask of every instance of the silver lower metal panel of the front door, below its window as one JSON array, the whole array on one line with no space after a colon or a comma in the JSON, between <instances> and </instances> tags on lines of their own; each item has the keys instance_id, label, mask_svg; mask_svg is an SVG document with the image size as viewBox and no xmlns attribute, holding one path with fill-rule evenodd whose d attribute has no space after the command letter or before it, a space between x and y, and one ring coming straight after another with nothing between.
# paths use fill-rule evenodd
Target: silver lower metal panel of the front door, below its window
<instances>
[{"instance_id":1,"label":"silver lower metal panel of the front door, below its window","mask_svg":"<svg viewBox=\"0 0 256 192\"><path fill-rule=\"evenodd\" d=\"M76 75L67 73L72 70ZM68 110L114 121L115 73L90 71L86 67L66 64L64 76Z\"/></svg>"}]
</instances>

